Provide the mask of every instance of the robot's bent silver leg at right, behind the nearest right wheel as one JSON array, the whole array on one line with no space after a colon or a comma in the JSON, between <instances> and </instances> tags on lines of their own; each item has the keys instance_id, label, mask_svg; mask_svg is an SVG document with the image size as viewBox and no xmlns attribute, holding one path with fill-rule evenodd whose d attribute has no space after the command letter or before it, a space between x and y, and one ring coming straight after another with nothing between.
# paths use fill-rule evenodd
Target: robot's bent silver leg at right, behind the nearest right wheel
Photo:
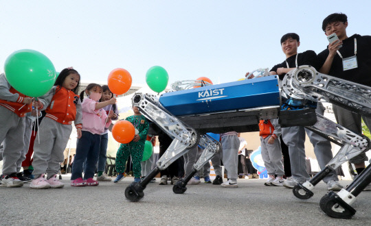
<instances>
[{"instance_id":1,"label":"robot's bent silver leg at right, behind the nearest right wheel","mask_svg":"<svg viewBox=\"0 0 371 226\"><path fill-rule=\"evenodd\" d=\"M312 197L313 188L319 181L324 179L328 173L334 171L344 162L370 149L370 140L366 136L355 134L349 129L330 121L328 118L324 118L324 116L320 114L317 114L317 123L306 128L311 129L315 133L324 136L324 138L342 147L322 171L319 171L319 173L309 181L304 182L304 184L297 184L294 186L293 194L299 199L309 199Z\"/></svg>"}]
</instances>

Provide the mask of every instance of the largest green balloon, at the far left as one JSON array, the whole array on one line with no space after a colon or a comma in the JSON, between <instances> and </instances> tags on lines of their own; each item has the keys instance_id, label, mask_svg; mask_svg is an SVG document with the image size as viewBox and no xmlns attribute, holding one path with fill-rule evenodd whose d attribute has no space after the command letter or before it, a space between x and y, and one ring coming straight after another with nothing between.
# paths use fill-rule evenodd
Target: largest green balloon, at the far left
<instances>
[{"instance_id":1,"label":"largest green balloon, at the far left","mask_svg":"<svg viewBox=\"0 0 371 226\"><path fill-rule=\"evenodd\" d=\"M45 95L56 81L56 68L46 55L21 49L5 60L5 77L18 92L29 97Z\"/></svg>"}]
</instances>

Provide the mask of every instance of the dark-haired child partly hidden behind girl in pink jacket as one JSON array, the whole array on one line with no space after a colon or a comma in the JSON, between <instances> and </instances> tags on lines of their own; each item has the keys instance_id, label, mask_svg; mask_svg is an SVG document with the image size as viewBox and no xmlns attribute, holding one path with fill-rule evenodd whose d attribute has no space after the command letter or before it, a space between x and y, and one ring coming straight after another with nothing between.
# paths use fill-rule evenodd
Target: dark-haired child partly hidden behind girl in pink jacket
<instances>
[{"instance_id":1,"label":"dark-haired child partly hidden behind girl in pink jacket","mask_svg":"<svg viewBox=\"0 0 371 226\"><path fill-rule=\"evenodd\" d=\"M100 99L100 102L103 101L109 101L112 99L113 94L111 90L109 90L109 86L104 85L102 86L102 98ZM118 112L117 112L117 106L115 104L113 105L106 105L106 107L103 108L103 110L106 111L106 114L109 114L109 111L113 111L113 117L111 120L117 120L118 118ZM105 173L104 170L106 168L106 160L107 160L107 144L108 144L108 129L104 129L104 132L100 134L100 152L98 156L98 175L97 175L97 181L111 181L111 178L109 178Z\"/></svg>"}]
</instances>

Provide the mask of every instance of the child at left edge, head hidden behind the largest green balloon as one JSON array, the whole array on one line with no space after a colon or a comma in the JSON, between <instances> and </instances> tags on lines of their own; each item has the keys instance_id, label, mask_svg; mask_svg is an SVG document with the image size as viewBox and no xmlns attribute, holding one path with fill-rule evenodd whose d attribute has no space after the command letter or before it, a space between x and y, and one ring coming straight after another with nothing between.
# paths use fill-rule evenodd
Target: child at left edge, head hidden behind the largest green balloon
<instances>
[{"instance_id":1,"label":"child at left edge, head hidden behind the largest green balloon","mask_svg":"<svg viewBox=\"0 0 371 226\"><path fill-rule=\"evenodd\" d=\"M32 111L32 99L10 86L5 75L0 74L0 142L3 142L3 176L1 186L21 187L23 181L16 177L16 161L24 147L25 114Z\"/></svg>"}]
</instances>

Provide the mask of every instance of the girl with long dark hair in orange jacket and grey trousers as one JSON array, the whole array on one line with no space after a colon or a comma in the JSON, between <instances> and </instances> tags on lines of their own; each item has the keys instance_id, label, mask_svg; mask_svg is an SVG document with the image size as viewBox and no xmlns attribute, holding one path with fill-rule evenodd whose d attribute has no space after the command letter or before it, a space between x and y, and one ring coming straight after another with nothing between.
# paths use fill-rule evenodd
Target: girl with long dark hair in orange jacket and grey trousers
<instances>
[{"instance_id":1,"label":"girl with long dark hair in orange jacket and grey trousers","mask_svg":"<svg viewBox=\"0 0 371 226\"><path fill-rule=\"evenodd\" d=\"M81 137L81 102L77 95L80 74L73 68L60 72L53 88L35 102L36 107L47 113L38 128L40 142L34 142L34 161L32 166L35 179L30 188L63 188L56 175L63 162L63 151L75 122L78 138ZM47 173L47 178L44 178Z\"/></svg>"}]
</instances>

